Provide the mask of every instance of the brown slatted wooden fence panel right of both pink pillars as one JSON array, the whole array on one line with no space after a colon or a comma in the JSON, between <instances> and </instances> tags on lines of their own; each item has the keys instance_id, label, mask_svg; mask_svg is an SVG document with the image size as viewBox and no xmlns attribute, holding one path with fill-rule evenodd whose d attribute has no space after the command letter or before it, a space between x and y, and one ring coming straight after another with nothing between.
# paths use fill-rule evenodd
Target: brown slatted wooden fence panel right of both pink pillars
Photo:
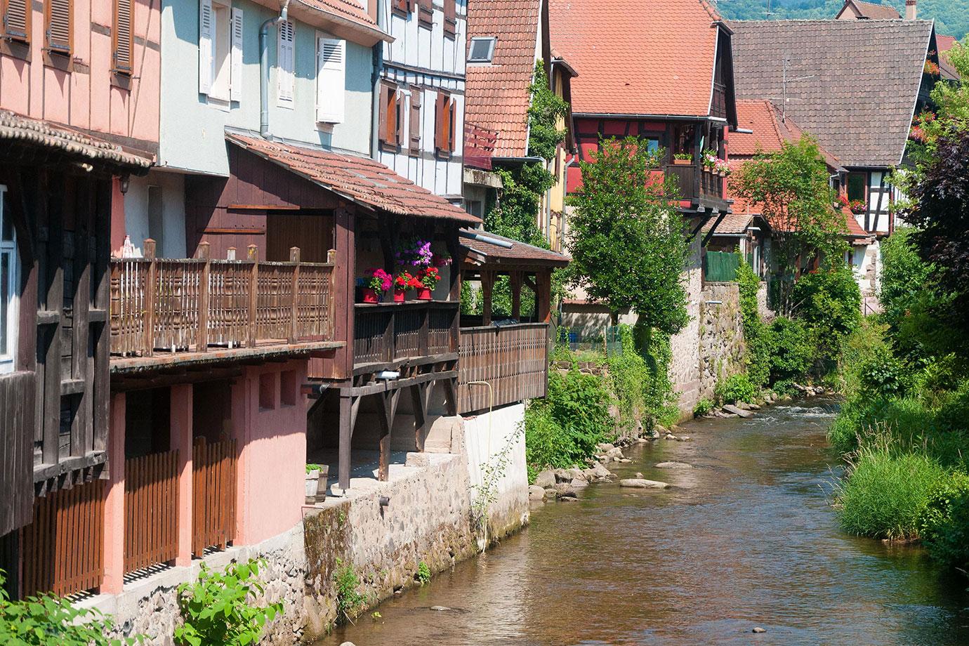
<instances>
[{"instance_id":1,"label":"brown slatted wooden fence panel right of both pink pillars","mask_svg":"<svg viewBox=\"0 0 969 646\"><path fill-rule=\"evenodd\" d=\"M206 547L225 549L235 537L235 462L234 440L208 444L198 438L192 447L192 553L197 557Z\"/></svg>"}]
</instances>

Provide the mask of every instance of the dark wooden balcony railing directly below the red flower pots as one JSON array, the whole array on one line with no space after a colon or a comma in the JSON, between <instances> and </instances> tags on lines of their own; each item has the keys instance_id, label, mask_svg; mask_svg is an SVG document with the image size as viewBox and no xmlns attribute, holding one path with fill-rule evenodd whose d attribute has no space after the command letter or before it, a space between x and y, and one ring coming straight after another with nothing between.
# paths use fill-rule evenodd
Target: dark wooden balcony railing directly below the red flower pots
<instances>
[{"instance_id":1,"label":"dark wooden balcony railing directly below the red flower pots","mask_svg":"<svg viewBox=\"0 0 969 646\"><path fill-rule=\"evenodd\" d=\"M411 301L358 304L354 323L354 363L457 352L458 303Z\"/></svg>"}]
</instances>

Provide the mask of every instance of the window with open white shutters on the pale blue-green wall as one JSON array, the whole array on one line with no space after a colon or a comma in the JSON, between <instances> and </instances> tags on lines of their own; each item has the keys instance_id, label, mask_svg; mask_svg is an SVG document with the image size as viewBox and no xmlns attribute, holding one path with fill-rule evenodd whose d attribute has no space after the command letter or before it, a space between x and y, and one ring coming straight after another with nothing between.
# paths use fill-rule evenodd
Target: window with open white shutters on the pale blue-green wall
<instances>
[{"instance_id":1,"label":"window with open white shutters on the pale blue-green wall","mask_svg":"<svg viewBox=\"0 0 969 646\"><path fill-rule=\"evenodd\" d=\"M241 101L241 9L200 0L199 93L218 101Z\"/></svg>"}]
</instances>

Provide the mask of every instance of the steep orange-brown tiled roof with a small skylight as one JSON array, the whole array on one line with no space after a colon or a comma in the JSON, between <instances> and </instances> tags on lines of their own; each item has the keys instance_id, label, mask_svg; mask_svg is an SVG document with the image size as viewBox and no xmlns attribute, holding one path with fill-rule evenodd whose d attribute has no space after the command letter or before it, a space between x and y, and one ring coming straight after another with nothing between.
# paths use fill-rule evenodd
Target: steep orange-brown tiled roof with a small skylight
<instances>
[{"instance_id":1,"label":"steep orange-brown tiled roof with a small skylight","mask_svg":"<svg viewBox=\"0 0 969 646\"><path fill-rule=\"evenodd\" d=\"M468 3L468 46L475 37L497 40L490 65L465 71L464 120L498 133L496 157L524 157L528 147L528 86L535 70L541 0Z\"/></svg>"}]
</instances>

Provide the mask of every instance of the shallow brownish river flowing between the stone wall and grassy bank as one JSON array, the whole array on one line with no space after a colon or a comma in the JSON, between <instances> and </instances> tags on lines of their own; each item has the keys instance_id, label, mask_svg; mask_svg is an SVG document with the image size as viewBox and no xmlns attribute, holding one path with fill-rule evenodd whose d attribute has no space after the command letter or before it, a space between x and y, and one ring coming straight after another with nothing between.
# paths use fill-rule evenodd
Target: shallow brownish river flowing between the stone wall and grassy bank
<instances>
[{"instance_id":1,"label":"shallow brownish river flowing between the stone wall and grassy bank","mask_svg":"<svg viewBox=\"0 0 969 646\"><path fill-rule=\"evenodd\" d=\"M699 420L691 442L629 449L612 471L673 487L593 484L533 508L515 537L320 643L969 644L965 579L838 530L834 406ZM666 460L694 468L653 467Z\"/></svg>"}]
</instances>

